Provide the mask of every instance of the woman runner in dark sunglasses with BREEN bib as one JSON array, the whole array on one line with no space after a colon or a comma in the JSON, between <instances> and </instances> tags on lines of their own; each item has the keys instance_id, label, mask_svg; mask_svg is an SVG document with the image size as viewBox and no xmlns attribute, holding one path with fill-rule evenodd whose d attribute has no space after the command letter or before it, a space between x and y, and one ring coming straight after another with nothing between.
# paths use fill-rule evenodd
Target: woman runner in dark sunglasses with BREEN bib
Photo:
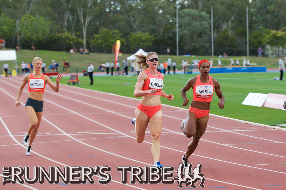
<instances>
[{"instance_id":1,"label":"woman runner in dark sunglasses with BREEN bib","mask_svg":"<svg viewBox=\"0 0 286 190\"><path fill-rule=\"evenodd\" d=\"M160 164L160 134L162 132L162 110L161 99L163 96L170 101L174 98L172 94L166 94L163 89L164 74L157 72L158 54L149 52L147 55L135 55L135 68L143 71L137 77L134 96L142 97L141 102L135 110L136 118L132 119L135 125L135 136L138 143L142 143L145 131L149 124L152 138L151 152L154 159L153 167L162 167Z\"/></svg>"}]
</instances>

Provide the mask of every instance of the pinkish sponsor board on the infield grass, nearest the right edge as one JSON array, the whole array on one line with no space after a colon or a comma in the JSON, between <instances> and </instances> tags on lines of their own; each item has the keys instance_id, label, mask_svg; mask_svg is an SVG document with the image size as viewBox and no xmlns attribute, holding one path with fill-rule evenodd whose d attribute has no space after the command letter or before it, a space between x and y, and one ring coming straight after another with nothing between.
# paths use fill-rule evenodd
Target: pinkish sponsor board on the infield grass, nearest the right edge
<instances>
[{"instance_id":1,"label":"pinkish sponsor board on the infield grass, nearest the right edge","mask_svg":"<svg viewBox=\"0 0 286 190\"><path fill-rule=\"evenodd\" d=\"M285 94L269 93L263 107L283 109L283 104L285 100L286 100Z\"/></svg>"}]
</instances>

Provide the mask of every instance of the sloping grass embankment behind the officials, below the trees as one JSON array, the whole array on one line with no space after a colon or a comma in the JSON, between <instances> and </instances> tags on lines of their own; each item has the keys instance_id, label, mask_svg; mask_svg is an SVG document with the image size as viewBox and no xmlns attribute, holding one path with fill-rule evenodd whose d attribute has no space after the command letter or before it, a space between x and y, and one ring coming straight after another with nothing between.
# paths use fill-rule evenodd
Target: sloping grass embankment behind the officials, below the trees
<instances>
[{"instance_id":1,"label":"sloping grass embankment behind the officials, below the trees","mask_svg":"<svg viewBox=\"0 0 286 190\"><path fill-rule=\"evenodd\" d=\"M14 49L6 49L6 50L14 50ZM123 54L122 56L119 56L119 62L121 63L121 67L123 68L122 61L127 60L126 58L129 57L131 54ZM47 50L20 50L17 52L17 63L19 67L19 71L21 71L21 63L22 61L31 62L34 57L41 57L42 60L46 63L47 67L51 65L52 60L55 60L59 63L59 72L62 72L63 70L63 61L67 60L70 63L70 70L71 72L76 72L76 68L78 68L78 72L82 72L83 69L87 69L88 63L92 62L94 65L94 71L98 71L99 63L105 63L107 61L111 62L114 61L114 55L111 54L104 54L104 53L90 53L89 55L84 54L81 55L79 52L75 54L70 54L66 52L60 52L60 51L47 51ZM192 60L210 60L211 56L197 56L197 57L182 57L182 56L175 56L175 55L158 55L159 62L167 61L169 58L176 61L177 63L177 69L182 69L181 63L182 60L188 60L191 62ZM214 57L214 65L217 66L217 57ZM242 66L242 57L237 56L230 56L228 59L220 59L222 61L223 66L229 66L230 65L230 59L233 59L236 61L236 59L239 59L240 66ZM245 59L249 59L250 62L257 63L257 65L263 65L267 68L278 68L278 61L279 57L262 57L259 59L257 56L255 57L245 57ZM13 68L13 61L7 61L9 64L9 68ZM0 65L3 65L4 61L0 61ZM49 69L47 69L47 72L50 72Z\"/></svg>"}]
</instances>

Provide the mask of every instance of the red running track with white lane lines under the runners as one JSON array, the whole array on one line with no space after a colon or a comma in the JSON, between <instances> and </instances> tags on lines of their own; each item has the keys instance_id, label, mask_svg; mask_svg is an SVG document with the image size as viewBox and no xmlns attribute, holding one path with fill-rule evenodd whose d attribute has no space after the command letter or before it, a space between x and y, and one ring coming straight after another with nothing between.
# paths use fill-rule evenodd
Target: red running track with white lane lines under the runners
<instances>
[{"instance_id":1,"label":"red running track with white lane lines under the runners","mask_svg":"<svg viewBox=\"0 0 286 190\"><path fill-rule=\"evenodd\" d=\"M180 189L176 181L169 185L132 185L128 179L127 185L121 184L117 166L153 165L149 129L143 143L137 143L134 138L130 120L139 103L136 99L65 85L60 85L56 93L47 86L41 125L31 155L26 156L21 142L30 124L23 106L28 96L27 85L20 98L23 105L15 106L21 80L19 77L0 79L0 168L110 166L112 182L82 185L45 181L26 186L1 184L1 189ZM177 170L191 141L179 128L186 111L162 106L162 113L160 160ZM202 164L205 189L286 189L285 148L285 131L210 116L206 133L189 162L193 168L197 163ZM176 171L173 173L177 175Z\"/></svg>"}]
</instances>

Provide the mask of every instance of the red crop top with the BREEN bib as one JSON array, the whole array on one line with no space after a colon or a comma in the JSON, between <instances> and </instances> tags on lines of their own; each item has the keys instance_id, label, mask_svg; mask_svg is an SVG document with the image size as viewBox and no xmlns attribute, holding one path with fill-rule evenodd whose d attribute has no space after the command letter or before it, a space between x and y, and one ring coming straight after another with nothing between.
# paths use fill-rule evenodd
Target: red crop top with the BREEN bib
<instances>
[{"instance_id":1,"label":"red crop top with the BREEN bib","mask_svg":"<svg viewBox=\"0 0 286 190\"><path fill-rule=\"evenodd\" d=\"M148 69L144 70L144 72L148 75L148 79L144 81L144 84L142 86L143 91L151 90L153 88L157 89L157 92L155 94L147 94L147 95L159 95L161 96L161 91L163 89L164 83L162 74L157 71L158 76L154 77Z\"/></svg>"}]
</instances>

